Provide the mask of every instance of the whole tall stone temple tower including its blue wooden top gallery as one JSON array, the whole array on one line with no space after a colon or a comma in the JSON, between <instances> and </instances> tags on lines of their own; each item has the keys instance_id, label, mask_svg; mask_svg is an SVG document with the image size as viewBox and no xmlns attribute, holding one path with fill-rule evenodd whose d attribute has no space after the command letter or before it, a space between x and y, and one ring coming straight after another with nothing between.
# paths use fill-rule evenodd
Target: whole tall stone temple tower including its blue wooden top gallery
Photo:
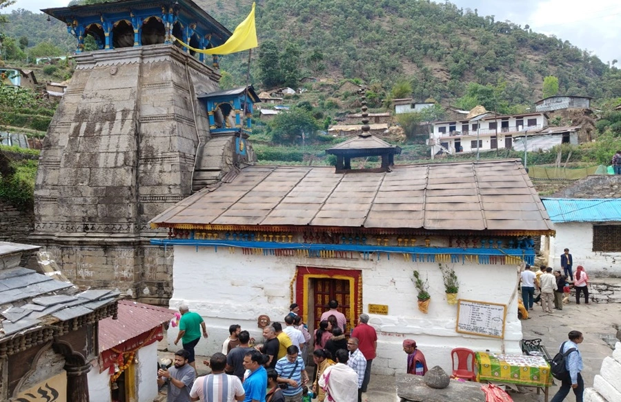
<instances>
[{"instance_id":1,"label":"whole tall stone temple tower including its blue wooden top gallery","mask_svg":"<svg viewBox=\"0 0 621 402\"><path fill-rule=\"evenodd\" d=\"M191 0L43 12L77 38L77 66L41 152L32 242L77 285L166 303L172 250L149 245L166 236L149 219L254 158L255 92L219 91L217 57L175 39L206 49L230 32Z\"/></svg>"}]
</instances>

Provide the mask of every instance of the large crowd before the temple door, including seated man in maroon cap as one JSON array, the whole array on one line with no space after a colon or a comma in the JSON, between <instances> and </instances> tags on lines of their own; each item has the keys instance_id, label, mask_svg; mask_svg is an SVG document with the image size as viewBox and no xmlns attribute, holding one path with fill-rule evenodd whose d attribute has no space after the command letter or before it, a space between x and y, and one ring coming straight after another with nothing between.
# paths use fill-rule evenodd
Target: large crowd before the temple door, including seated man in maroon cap
<instances>
[{"instance_id":1,"label":"large crowd before the temple door, including seated man in maroon cap","mask_svg":"<svg viewBox=\"0 0 621 402\"><path fill-rule=\"evenodd\" d=\"M230 325L221 352L204 361L211 374L197 378L194 348L201 332L205 338L208 332L199 314L181 305L175 345L182 341L184 348L175 353L172 367L158 370L158 384L166 385L168 402L361 402L371 379L377 333L368 325L368 314L360 314L351 336L345 336L347 319L339 304L332 300L328 307L312 335L296 303L283 323L259 317L264 342L258 345L240 325ZM416 342L406 339L403 350L408 354L406 372L423 375L426 362ZM311 356L313 381L306 371Z\"/></svg>"}]
</instances>

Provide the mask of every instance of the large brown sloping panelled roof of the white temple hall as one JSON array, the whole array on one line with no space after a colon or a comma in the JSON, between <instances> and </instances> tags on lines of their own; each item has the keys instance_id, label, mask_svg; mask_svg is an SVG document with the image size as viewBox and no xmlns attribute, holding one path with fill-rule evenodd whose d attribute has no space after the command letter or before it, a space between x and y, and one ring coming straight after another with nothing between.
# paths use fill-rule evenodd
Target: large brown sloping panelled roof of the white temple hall
<instances>
[{"instance_id":1,"label":"large brown sloping panelled roof of the white temple hall","mask_svg":"<svg viewBox=\"0 0 621 402\"><path fill-rule=\"evenodd\" d=\"M155 225L295 225L552 232L519 160L396 165L392 172L250 166Z\"/></svg>"}]
</instances>

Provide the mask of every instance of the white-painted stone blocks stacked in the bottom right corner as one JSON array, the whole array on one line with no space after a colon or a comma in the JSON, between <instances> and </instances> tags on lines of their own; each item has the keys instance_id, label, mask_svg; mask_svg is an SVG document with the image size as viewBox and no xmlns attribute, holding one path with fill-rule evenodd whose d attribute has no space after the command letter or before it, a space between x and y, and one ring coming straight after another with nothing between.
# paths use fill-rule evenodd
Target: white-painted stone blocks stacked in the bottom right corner
<instances>
[{"instance_id":1,"label":"white-painted stone blocks stacked in the bottom right corner","mask_svg":"<svg viewBox=\"0 0 621 402\"><path fill-rule=\"evenodd\" d=\"M621 342L617 342L612 356L602 362L600 374L593 379L593 388L584 390L584 402L621 401Z\"/></svg>"}]
</instances>

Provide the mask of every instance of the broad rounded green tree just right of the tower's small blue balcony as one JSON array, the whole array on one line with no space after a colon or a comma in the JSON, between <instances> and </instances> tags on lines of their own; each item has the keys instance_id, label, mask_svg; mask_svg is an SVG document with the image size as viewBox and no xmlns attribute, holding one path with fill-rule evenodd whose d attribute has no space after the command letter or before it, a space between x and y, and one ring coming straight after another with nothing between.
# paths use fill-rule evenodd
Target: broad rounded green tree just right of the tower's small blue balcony
<instances>
[{"instance_id":1,"label":"broad rounded green tree just right of the tower's small blue balcony","mask_svg":"<svg viewBox=\"0 0 621 402\"><path fill-rule=\"evenodd\" d=\"M304 108L293 108L288 112L277 114L268 123L268 132L272 134L274 143L302 142L302 138L315 138L319 125L311 112Z\"/></svg>"}]
</instances>

